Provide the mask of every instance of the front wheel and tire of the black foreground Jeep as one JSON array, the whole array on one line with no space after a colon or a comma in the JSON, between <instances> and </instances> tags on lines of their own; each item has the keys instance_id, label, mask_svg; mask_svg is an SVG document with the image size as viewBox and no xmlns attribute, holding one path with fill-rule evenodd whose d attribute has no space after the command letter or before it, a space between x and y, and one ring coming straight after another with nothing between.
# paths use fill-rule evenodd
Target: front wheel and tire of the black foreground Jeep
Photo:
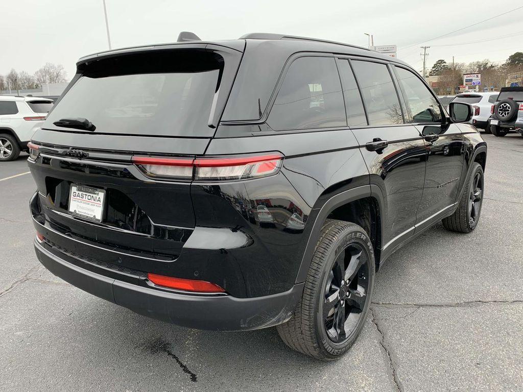
<instances>
[{"instance_id":1,"label":"front wheel and tire of the black foreground Jeep","mask_svg":"<svg viewBox=\"0 0 523 392\"><path fill-rule=\"evenodd\" d=\"M470 233L476 228L480 221L484 186L483 168L479 163L474 162L458 209L441 221L447 230Z\"/></svg>"}]
</instances>

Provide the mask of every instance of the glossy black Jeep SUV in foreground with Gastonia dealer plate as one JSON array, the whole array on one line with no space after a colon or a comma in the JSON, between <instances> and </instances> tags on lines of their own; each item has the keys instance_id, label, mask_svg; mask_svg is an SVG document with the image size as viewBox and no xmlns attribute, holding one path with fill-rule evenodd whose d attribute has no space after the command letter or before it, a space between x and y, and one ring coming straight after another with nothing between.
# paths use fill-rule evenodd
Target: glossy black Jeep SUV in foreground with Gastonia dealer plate
<instances>
[{"instance_id":1,"label":"glossy black Jeep SUV in foreground with Gastonia dealer plate","mask_svg":"<svg viewBox=\"0 0 523 392\"><path fill-rule=\"evenodd\" d=\"M142 315L337 358L393 251L476 227L471 108L353 45L181 36L78 61L29 145L38 258Z\"/></svg>"}]
</instances>

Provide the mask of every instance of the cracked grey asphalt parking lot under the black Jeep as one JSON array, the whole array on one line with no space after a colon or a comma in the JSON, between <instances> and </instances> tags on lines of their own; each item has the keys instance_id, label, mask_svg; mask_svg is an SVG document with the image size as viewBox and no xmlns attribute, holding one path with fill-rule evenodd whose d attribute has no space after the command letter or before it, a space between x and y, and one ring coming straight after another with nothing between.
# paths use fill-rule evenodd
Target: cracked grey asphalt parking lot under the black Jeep
<instances>
[{"instance_id":1,"label":"cracked grey asphalt parking lot under the black Jeep","mask_svg":"<svg viewBox=\"0 0 523 392\"><path fill-rule=\"evenodd\" d=\"M438 224L394 253L360 339L332 363L274 328L179 328L61 281L32 248L27 155L0 164L0 390L523 390L523 138L484 139L479 227Z\"/></svg>"}]
</instances>

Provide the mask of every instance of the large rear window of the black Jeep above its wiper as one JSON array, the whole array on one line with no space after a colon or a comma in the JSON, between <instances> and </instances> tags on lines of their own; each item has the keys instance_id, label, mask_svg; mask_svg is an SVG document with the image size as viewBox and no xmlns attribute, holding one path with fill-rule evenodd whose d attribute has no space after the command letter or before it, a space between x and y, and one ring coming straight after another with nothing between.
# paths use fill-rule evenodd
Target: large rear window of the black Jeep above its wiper
<instances>
[{"instance_id":1,"label":"large rear window of the black Jeep above its wiper","mask_svg":"<svg viewBox=\"0 0 523 392\"><path fill-rule=\"evenodd\" d=\"M86 66L44 128L56 129L53 122L64 118L85 118L96 133L210 137L209 115L222 70L222 57L203 51L100 60Z\"/></svg>"}]
</instances>

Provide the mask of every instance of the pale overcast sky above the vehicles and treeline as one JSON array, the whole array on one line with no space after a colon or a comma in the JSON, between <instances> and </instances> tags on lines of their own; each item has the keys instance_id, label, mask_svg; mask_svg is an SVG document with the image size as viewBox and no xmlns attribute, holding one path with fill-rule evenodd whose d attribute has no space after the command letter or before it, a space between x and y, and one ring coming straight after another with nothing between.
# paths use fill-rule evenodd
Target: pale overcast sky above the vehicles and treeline
<instances>
[{"instance_id":1,"label":"pale overcast sky above the vehicles and treeline","mask_svg":"<svg viewBox=\"0 0 523 392\"><path fill-rule=\"evenodd\" d=\"M422 69L421 44L430 45L427 62L437 59L504 62L523 51L523 8L430 40L523 6L492 0L323 0L201 1L106 0L113 49L176 41L179 31L202 40L234 39L246 32L275 32L367 46L396 44L398 57ZM46 62L62 64L71 79L78 57L108 49L103 0L1 0L0 74L11 68L34 73ZM423 4L422 4L423 3ZM512 34L511 37L506 37ZM468 43L471 41L495 40ZM422 42L426 40L426 42ZM456 45L468 43L464 45ZM410 48L410 45L413 45ZM453 46L436 46L453 45Z\"/></svg>"}]
</instances>

